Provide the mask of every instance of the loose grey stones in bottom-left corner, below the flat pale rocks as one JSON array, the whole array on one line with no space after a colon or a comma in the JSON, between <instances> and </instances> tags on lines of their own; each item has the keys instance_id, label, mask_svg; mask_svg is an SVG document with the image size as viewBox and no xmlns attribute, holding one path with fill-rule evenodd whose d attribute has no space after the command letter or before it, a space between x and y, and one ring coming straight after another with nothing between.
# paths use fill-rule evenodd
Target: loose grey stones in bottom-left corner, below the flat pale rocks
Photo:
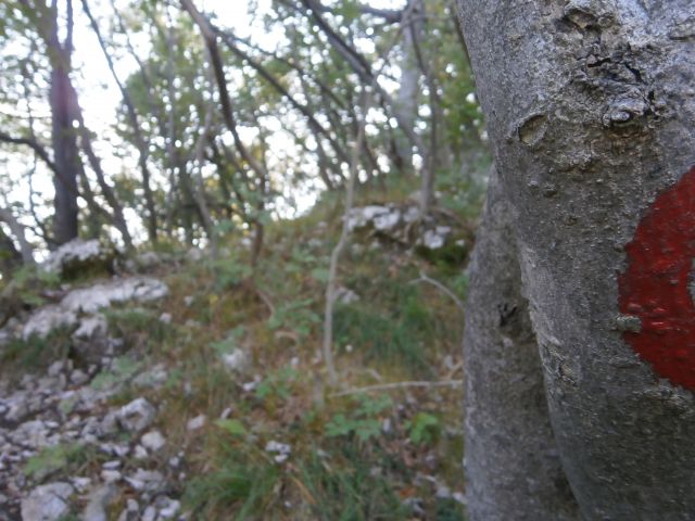
<instances>
[{"instance_id":1,"label":"loose grey stones in bottom-left corner, below the flat pale rocks","mask_svg":"<svg viewBox=\"0 0 695 521\"><path fill-rule=\"evenodd\" d=\"M156 408L142 397L106 407L119 386L96 390L97 372L97 366L86 373L70 361L56 361L42 378L25 377L14 389L0 389L0 520L59 520L78 505L80 519L105 521L116 487L128 496L118 520L185 519L170 494L173 480L186 476L182 459L153 467L153 457L166 444L161 432L150 430ZM152 385L164 377L155 368L137 379ZM60 465L63 456L51 455L50 447L89 453L85 459L92 465L65 481L52 481L58 468L51 458ZM35 471L28 471L31 461L37 462Z\"/></svg>"}]
</instances>

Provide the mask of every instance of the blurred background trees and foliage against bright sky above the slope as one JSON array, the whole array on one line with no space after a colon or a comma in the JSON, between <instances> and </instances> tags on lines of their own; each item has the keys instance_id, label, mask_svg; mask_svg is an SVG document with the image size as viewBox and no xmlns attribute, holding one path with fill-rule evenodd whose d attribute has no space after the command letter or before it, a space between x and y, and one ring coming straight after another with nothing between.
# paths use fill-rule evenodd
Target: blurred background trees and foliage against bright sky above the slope
<instances>
[{"instance_id":1,"label":"blurred background trees and foliage against bright sky above the slope","mask_svg":"<svg viewBox=\"0 0 695 521\"><path fill-rule=\"evenodd\" d=\"M424 214L438 176L485 161L448 0L11 0L0 20L16 259L77 236L214 250L231 232L258 255L268 219L345 187L362 119L358 183L419 176Z\"/></svg>"}]
</instances>

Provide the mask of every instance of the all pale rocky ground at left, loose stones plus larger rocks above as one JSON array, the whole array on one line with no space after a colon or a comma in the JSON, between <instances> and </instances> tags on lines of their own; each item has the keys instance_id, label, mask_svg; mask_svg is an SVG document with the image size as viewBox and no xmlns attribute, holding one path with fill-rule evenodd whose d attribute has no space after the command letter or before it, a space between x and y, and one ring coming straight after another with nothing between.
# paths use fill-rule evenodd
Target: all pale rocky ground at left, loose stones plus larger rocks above
<instances>
[{"instance_id":1,"label":"all pale rocky ground at left, loose stones plus larger rocks above","mask_svg":"<svg viewBox=\"0 0 695 521\"><path fill-rule=\"evenodd\" d=\"M96 241L76 242L43 269L62 277L108 258ZM119 521L186 519L173 493L186 479L182 453L165 461L157 457L167 444L151 429L157 408L144 397L108 405L126 383L136 390L157 386L167 371L162 365L146 371L121 367L122 342L109 335L103 309L156 301L167 291L154 278L99 279L55 292L55 303L13 317L0 330L0 347L7 347L13 340L51 342L62 328L72 332L74 348L45 373L0 380L0 521L106 521L110 505L124 498ZM73 475L53 479L68 466Z\"/></svg>"}]
</instances>

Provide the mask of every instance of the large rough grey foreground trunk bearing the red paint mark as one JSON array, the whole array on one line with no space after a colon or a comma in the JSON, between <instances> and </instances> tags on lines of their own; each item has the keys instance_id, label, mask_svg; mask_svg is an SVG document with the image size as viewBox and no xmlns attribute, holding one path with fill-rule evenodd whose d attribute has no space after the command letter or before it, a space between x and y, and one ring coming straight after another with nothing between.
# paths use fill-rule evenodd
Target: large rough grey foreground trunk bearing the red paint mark
<instances>
[{"instance_id":1,"label":"large rough grey foreground trunk bearing the red paint mark","mask_svg":"<svg viewBox=\"0 0 695 521\"><path fill-rule=\"evenodd\" d=\"M515 215L507 240L518 243L548 416L581 512L587 520L693 519L695 7L459 7ZM479 334L491 323L478 325ZM471 366L498 363L494 344L468 354ZM509 385L513 377L500 374ZM469 380L468 410L484 390ZM533 458L477 452L484 444L476 436L508 429L504 409L484 423L476 415L467 421L467 457L495 472L523 465L529 476L542 475ZM502 493L469 478L473 521L509 519L504 512L528 494L519 481L516 497L483 516L481 496Z\"/></svg>"}]
</instances>

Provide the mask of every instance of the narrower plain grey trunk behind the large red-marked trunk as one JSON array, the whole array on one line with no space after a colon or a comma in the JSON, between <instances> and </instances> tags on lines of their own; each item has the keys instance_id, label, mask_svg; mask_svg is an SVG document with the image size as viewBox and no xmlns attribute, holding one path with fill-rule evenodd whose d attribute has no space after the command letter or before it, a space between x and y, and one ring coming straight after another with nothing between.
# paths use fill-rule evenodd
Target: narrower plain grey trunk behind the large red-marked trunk
<instances>
[{"instance_id":1,"label":"narrower plain grey trunk behind the large red-marked trunk","mask_svg":"<svg viewBox=\"0 0 695 521\"><path fill-rule=\"evenodd\" d=\"M464 359L469 514L485 521L578 520L521 295L514 208L492 169L471 258Z\"/></svg>"}]
</instances>

